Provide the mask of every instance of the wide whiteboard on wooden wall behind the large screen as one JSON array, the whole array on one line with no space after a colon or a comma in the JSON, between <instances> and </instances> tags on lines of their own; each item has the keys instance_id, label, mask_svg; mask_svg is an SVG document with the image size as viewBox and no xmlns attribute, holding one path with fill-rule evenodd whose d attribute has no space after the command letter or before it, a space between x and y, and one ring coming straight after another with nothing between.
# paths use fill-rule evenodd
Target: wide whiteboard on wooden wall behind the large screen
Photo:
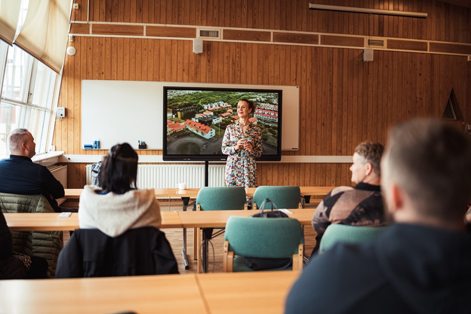
<instances>
[{"instance_id":1,"label":"wide whiteboard on wooden wall behind the large screen","mask_svg":"<svg viewBox=\"0 0 471 314\"><path fill-rule=\"evenodd\" d=\"M189 82L82 80L81 143L100 141L100 149L128 142L135 149L162 149L163 87L282 89L282 150L299 149L299 87Z\"/></svg>"}]
</instances>

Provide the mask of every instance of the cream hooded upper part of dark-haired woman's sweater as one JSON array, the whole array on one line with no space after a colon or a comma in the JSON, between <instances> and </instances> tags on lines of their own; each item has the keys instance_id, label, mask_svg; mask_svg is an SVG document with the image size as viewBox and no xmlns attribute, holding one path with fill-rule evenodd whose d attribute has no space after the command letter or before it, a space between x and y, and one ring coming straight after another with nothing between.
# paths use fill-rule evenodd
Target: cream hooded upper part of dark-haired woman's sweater
<instances>
[{"instance_id":1,"label":"cream hooded upper part of dark-haired woman's sweater","mask_svg":"<svg viewBox=\"0 0 471 314\"><path fill-rule=\"evenodd\" d=\"M97 194L101 189L85 185L78 204L80 229L99 229L116 237L129 229L160 228L159 202L154 189L130 190L125 194Z\"/></svg>"}]
</instances>

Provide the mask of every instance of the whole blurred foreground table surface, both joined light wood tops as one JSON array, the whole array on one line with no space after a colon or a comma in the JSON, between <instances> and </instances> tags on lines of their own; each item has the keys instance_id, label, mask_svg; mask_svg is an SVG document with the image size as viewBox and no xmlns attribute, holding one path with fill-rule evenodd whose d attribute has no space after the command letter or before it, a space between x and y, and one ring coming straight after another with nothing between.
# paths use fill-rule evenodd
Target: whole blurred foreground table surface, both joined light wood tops
<instances>
[{"instance_id":1,"label":"whole blurred foreground table surface, both joined light wood tops","mask_svg":"<svg viewBox=\"0 0 471 314\"><path fill-rule=\"evenodd\" d=\"M1 313L283 313L298 272L0 280Z\"/></svg>"}]
</instances>

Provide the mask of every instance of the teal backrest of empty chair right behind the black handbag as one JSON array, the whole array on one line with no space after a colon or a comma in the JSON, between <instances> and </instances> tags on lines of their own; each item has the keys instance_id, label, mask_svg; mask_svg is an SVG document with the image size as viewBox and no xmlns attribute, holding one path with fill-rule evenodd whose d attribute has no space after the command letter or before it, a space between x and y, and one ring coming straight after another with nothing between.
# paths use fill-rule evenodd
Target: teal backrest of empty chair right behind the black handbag
<instances>
[{"instance_id":1,"label":"teal backrest of empty chair right behind the black handbag","mask_svg":"<svg viewBox=\"0 0 471 314\"><path fill-rule=\"evenodd\" d=\"M301 224L291 218L230 216L224 240L235 255L291 258L304 243L304 233Z\"/></svg>"}]
</instances>

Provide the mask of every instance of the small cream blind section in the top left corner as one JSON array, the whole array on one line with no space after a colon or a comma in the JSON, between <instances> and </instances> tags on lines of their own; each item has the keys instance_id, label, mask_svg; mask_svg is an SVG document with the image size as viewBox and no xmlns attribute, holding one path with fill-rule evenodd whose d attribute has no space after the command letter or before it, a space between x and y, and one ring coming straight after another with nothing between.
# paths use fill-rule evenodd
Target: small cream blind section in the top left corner
<instances>
[{"instance_id":1,"label":"small cream blind section in the top left corner","mask_svg":"<svg viewBox=\"0 0 471 314\"><path fill-rule=\"evenodd\" d=\"M18 24L20 0L0 0L0 38L11 44Z\"/></svg>"}]
</instances>

